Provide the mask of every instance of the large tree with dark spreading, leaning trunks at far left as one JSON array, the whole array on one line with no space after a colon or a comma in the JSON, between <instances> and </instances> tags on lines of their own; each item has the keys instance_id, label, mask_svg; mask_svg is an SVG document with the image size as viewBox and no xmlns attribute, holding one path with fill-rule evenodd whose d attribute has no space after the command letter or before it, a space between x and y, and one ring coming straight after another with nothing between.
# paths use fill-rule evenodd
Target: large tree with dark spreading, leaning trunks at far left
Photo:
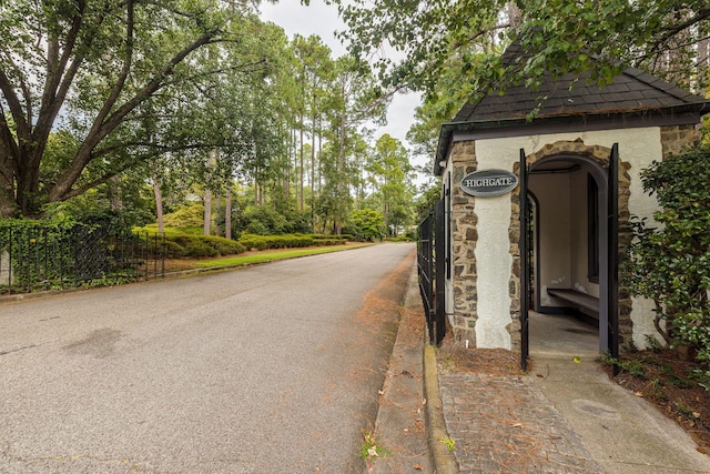
<instances>
[{"instance_id":1,"label":"large tree with dark spreading, leaning trunks at far left","mask_svg":"<svg viewBox=\"0 0 710 474\"><path fill-rule=\"evenodd\" d=\"M131 147L116 147L112 139L135 131L148 102L172 97L183 112L200 108L180 101L184 83L252 70L260 59L246 50L245 61L229 71L210 69L200 52L219 42L239 46L256 21L256 3L1 2L0 215L36 215L42 204L79 195L134 165ZM196 65L205 68L197 72ZM60 117L71 119L79 132L77 149L51 180L42 181L48 138ZM182 147L193 144L187 135L183 130ZM145 148L145 140L133 145ZM180 147L181 140L171 145ZM80 184L94 164L97 175Z\"/></svg>"}]
</instances>

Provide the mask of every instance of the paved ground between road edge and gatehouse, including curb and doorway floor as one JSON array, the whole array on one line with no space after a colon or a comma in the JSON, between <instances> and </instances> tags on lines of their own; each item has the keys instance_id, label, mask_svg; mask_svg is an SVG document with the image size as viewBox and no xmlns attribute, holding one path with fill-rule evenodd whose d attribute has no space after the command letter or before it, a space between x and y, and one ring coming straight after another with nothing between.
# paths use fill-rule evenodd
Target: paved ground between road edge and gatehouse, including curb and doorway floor
<instances>
[{"instance_id":1,"label":"paved ground between road edge and gatehouse, including curb and doorway floor","mask_svg":"<svg viewBox=\"0 0 710 474\"><path fill-rule=\"evenodd\" d=\"M416 273L404 307L376 422L393 454L368 472L710 473L690 436L598 369L595 327L530 313L529 374L488 375L437 361Z\"/></svg>"}]
</instances>

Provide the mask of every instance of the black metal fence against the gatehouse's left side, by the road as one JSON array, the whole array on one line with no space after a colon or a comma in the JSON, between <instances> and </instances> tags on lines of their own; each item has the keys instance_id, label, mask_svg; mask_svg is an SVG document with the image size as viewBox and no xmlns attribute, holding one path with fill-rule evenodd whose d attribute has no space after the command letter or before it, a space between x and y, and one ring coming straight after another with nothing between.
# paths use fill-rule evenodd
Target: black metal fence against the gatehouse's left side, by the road
<instances>
[{"instance_id":1,"label":"black metal fence against the gatehouse's left side, by the road","mask_svg":"<svg viewBox=\"0 0 710 474\"><path fill-rule=\"evenodd\" d=\"M436 345L439 345L446 335L443 204L444 201L437 202L436 206L429 211L429 214L422 220L419 223L419 240L417 242L419 293L424 304L429 342Z\"/></svg>"}]
</instances>

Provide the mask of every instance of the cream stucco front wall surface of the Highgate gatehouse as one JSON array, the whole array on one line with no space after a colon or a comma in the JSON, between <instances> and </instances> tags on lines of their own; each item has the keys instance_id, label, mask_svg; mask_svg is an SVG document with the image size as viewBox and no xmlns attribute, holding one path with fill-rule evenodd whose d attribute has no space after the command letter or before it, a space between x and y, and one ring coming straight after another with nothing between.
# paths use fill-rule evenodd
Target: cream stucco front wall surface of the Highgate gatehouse
<instances>
[{"instance_id":1,"label":"cream stucco front wall surface of the Highgate gatehouse","mask_svg":"<svg viewBox=\"0 0 710 474\"><path fill-rule=\"evenodd\" d=\"M619 143L621 161L631 165L628 171L631 177L629 211L631 214L650 218L657 203L655 199L643 194L639 173L651 160L658 160L662 157L660 129L658 128L480 139L476 140L478 169L497 168L513 171L514 164L519 159L520 149L530 154L547 143L577 139L581 139L586 145L611 148L613 143ZM510 297L508 295L508 282L511 279L508 238L510 196L478 199L476 213L479 233L479 241L476 245L479 317L476 324L477 345L509 349L510 341L505 326L510 323ZM633 342L639 347L646 345L647 334L656 333L652 312L648 309L647 303L633 302L631 313Z\"/></svg>"}]
</instances>

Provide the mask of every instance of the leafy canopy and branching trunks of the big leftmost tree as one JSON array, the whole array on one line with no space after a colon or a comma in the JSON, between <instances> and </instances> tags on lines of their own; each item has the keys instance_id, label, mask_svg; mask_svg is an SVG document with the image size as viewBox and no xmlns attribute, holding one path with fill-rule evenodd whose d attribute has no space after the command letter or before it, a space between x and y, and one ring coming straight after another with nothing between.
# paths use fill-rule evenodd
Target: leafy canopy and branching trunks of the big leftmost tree
<instances>
[{"instance_id":1,"label":"leafy canopy and branching trunks of the big leftmost tree","mask_svg":"<svg viewBox=\"0 0 710 474\"><path fill-rule=\"evenodd\" d=\"M256 4L1 2L0 215L36 215L166 151L243 144L219 82L265 70ZM59 128L74 140L48 163Z\"/></svg>"}]
</instances>

